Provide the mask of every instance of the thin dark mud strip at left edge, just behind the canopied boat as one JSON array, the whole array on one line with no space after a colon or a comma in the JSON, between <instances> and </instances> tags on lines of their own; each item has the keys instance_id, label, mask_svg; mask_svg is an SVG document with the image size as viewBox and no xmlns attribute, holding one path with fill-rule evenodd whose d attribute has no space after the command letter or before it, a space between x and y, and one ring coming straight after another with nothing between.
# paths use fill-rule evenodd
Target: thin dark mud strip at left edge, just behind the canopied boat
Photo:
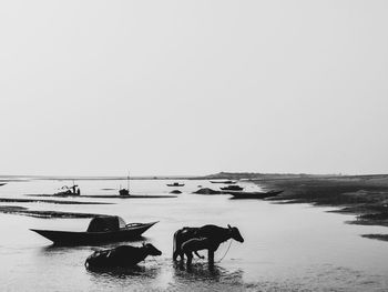
<instances>
[{"instance_id":1,"label":"thin dark mud strip at left edge, just behind the canopied boat","mask_svg":"<svg viewBox=\"0 0 388 292\"><path fill-rule=\"evenodd\" d=\"M103 214L94 214L94 213L37 211L37 210L30 210L25 207L19 207L19 205L0 205L0 213L27 215L27 217L34 217L34 218L45 218L45 219L52 219L52 218L80 219L80 218L104 217Z\"/></svg>"}]
</instances>

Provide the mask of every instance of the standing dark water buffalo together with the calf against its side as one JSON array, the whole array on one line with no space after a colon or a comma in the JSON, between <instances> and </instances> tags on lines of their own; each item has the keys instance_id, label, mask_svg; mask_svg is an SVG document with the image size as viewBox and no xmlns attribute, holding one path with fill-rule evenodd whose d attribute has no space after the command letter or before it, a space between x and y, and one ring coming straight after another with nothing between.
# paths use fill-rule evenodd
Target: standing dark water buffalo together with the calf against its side
<instances>
[{"instance_id":1,"label":"standing dark water buffalo together with the calf against its side","mask_svg":"<svg viewBox=\"0 0 388 292\"><path fill-rule=\"evenodd\" d=\"M214 252L219 244L234 239L238 242L244 242L242 234L237 228L219 228L216 225L204 225L202 228L183 228L174 233L173 260L176 261L181 256L184 260L184 254L187 256L187 266L193 260L193 252L202 258L197 251L207 250L208 263L214 263Z\"/></svg>"}]
</instances>

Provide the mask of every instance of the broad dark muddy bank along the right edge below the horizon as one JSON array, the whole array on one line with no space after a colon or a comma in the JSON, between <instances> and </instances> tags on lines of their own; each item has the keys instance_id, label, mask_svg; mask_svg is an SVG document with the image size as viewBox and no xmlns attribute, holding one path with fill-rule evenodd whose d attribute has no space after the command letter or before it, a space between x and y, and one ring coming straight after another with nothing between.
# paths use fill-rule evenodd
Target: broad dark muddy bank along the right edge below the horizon
<instances>
[{"instance_id":1,"label":"broad dark muddy bank along the right edge below the horizon","mask_svg":"<svg viewBox=\"0 0 388 292\"><path fill-rule=\"evenodd\" d=\"M331 212L356 215L351 224L388 226L388 175L351 175L328 178L256 179L253 182L265 189L284 192L269 200L282 203L310 203L336 207ZM385 234L367 234L382 239Z\"/></svg>"}]
</instances>

